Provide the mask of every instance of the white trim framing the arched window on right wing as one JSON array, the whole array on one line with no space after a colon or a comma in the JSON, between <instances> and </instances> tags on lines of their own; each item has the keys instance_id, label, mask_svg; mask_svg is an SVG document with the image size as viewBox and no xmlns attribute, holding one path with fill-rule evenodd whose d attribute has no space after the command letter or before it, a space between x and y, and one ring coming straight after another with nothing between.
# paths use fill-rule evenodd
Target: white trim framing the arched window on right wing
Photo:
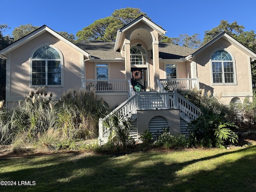
<instances>
[{"instance_id":1,"label":"white trim framing the arched window on right wing","mask_svg":"<svg viewBox=\"0 0 256 192\"><path fill-rule=\"evenodd\" d=\"M213 55L216 51L218 51L218 50L224 50L224 51L228 52L228 53L231 55L232 59L233 59L232 62L233 62L233 68L234 68L234 83L225 83L225 82L224 82L225 79L224 79L223 60L222 60L222 61L213 61L213 62L222 62L222 80L223 80L224 83L214 83L214 82L213 82L212 55ZM227 61L227 62L228 62L228 61ZM235 57L234 57L234 55L233 55L231 52L229 52L229 51L226 50L226 49L216 49L216 50L214 50L214 51L212 52L211 58L210 58L210 72L211 72L211 85L237 85L237 81L236 81L236 61L235 61Z\"/></svg>"}]
</instances>

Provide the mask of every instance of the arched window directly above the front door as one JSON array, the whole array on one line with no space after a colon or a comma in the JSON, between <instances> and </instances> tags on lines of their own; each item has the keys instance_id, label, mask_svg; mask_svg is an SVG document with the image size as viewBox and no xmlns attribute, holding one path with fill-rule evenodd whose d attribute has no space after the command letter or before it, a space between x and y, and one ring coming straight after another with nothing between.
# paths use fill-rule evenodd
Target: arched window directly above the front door
<instances>
[{"instance_id":1,"label":"arched window directly above the front door","mask_svg":"<svg viewBox=\"0 0 256 192\"><path fill-rule=\"evenodd\" d=\"M146 51L141 47L141 50L137 50L137 46L130 48L131 64L132 65L146 65Z\"/></svg>"}]
</instances>

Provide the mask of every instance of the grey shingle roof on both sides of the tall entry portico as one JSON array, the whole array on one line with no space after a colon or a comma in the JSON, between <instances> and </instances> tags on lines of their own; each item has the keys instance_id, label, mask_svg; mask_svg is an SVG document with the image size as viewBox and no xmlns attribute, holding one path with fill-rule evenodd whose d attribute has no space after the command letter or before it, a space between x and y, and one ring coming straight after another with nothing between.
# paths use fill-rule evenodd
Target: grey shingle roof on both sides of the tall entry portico
<instances>
[{"instance_id":1,"label":"grey shingle roof on both sides of the tall entry portico","mask_svg":"<svg viewBox=\"0 0 256 192\"><path fill-rule=\"evenodd\" d=\"M114 50L114 45L115 42L98 41L86 41L76 44L76 46L88 52L95 59L121 58L121 53ZM192 52L195 52L195 50L170 43L159 43L159 58L162 59L180 59Z\"/></svg>"}]
</instances>

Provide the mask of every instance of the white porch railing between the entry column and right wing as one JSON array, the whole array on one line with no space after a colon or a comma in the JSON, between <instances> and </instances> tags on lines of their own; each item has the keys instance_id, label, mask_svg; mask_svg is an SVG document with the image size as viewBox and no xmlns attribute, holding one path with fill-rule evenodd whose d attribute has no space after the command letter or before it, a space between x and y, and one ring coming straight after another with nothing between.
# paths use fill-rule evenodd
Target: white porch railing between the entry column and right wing
<instances>
[{"instance_id":1,"label":"white porch railing between the entry column and right wing","mask_svg":"<svg viewBox=\"0 0 256 192\"><path fill-rule=\"evenodd\" d=\"M160 84L167 91L191 90L199 88L198 78L194 79L160 79Z\"/></svg>"}]
</instances>

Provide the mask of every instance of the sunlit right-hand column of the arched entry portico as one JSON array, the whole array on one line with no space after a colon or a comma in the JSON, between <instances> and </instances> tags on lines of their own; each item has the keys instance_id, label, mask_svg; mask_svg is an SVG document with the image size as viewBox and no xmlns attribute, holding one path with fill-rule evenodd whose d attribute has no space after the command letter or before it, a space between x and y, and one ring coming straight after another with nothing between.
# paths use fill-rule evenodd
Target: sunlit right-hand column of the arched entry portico
<instances>
[{"instance_id":1,"label":"sunlit right-hand column of the arched entry portico","mask_svg":"<svg viewBox=\"0 0 256 192\"><path fill-rule=\"evenodd\" d=\"M157 88L156 80L160 78L159 75L159 50L158 50L159 41L153 41L152 44L152 52L153 52L153 72L154 72L154 87L153 89ZM151 84L150 84L151 86Z\"/></svg>"}]
</instances>

